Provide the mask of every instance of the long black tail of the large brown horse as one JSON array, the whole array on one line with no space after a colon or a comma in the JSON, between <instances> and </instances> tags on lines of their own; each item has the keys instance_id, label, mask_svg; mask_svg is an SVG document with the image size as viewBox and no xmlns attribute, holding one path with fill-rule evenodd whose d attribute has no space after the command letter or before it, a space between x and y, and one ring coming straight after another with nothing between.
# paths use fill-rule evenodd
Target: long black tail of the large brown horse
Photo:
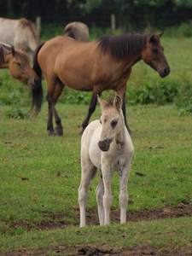
<instances>
[{"instance_id":1,"label":"long black tail of the large brown horse","mask_svg":"<svg viewBox=\"0 0 192 256\"><path fill-rule=\"evenodd\" d=\"M37 88L32 89L32 108L28 112L28 113L32 114L32 116L38 115L38 113L41 110L41 105L43 102L42 70L41 70L41 67L39 67L39 65L38 65L38 52L42 48L44 43L39 44L38 48L36 49L34 58L33 58L32 69L35 71L35 73L37 73L37 75L40 79L40 83Z\"/></svg>"}]
</instances>

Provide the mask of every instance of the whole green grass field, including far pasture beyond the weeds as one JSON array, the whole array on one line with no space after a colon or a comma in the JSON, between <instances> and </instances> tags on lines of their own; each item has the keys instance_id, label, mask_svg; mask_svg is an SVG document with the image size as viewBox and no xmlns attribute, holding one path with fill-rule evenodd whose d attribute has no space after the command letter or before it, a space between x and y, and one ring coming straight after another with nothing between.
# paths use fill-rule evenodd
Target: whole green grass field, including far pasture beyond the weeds
<instances>
[{"instance_id":1,"label":"whole green grass field, including far pasture beyond the weeds","mask_svg":"<svg viewBox=\"0 0 192 256\"><path fill-rule=\"evenodd\" d=\"M49 38L47 38L49 39ZM191 44L192 38L161 39L171 73L160 79L143 61L133 67L128 92L137 87L146 96L150 88L157 89L161 81L177 86L191 84ZM151 84L144 91L143 84ZM0 70L0 254L44 251L56 254L58 248L73 247L65 254L74 255L78 247L84 245L104 247L158 248L168 253L176 248L185 249L180 255L190 255L192 241L191 218L150 219L148 221L127 222L120 225L111 218L106 227L89 225L79 229L78 188L80 183L80 137L81 124L88 106L74 104L81 97L90 101L90 93L77 94L65 89L56 105L64 126L63 137L48 137L47 102L36 119L9 119L15 113L21 115L29 110L31 91L26 85L10 77L8 70ZM103 97L113 92L103 93ZM81 99L79 102L81 102ZM190 101L189 98L186 101ZM72 104L63 104L72 102ZM160 104L159 104L160 105ZM192 116L178 116L175 104L157 106L126 106L127 119L135 132L132 142L135 154L131 162L131 176L128 193L131 203L129 212L144 212L153 207L190 207L192 205L191 141ZM100 118L100 108L91 120ZM57 172L61 172L61 176ZM136 172L143 176L137 176ZM96 177L89 189L87 217L96 209ZM119 177L113 175L113 207L119 208ZM184 211L184 210L183 210ZM61 224L54 229L55 221ZM44 224L44 229L40 228ZM46 224L49 224L46 226ZM113 234L113 236L112 236ZM19 249L20 248L20 249ZM54 250L55 248L55 250ZM38 252L36 251L36 252ZM147 253L149 254L149 253Z\"/></svg>"}]
</instances>

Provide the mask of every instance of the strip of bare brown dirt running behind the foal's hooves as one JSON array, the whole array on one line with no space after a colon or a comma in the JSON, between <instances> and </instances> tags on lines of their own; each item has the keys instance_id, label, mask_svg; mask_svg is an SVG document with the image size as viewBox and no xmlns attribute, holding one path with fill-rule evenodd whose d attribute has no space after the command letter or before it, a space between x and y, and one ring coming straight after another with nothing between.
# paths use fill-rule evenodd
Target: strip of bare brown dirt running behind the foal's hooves
<instances>
[{"instance_id":1,"label":"strip of bare brown dirt running behind the foal's hooves","mask_svg":"<svg viewBox=\"0 0 192 256\"><path fill-rule=\"evenodd\" d=\"M79 220L79 208L73 208L74 217ZM63 221L65 213L60 212L57 215L51 214L49 218L51 221L43 220L38 224L28 224L25 220L23 222L13 223L12 228L20 226L25 227L26 230L55 230L63 229L64 227L79 226L79 224L71 224ZM127 222L129 221L141 221L151 220L159 218L181 218L192 217L192 204L185 205L179 203L178 207L165 207L162 209L151 207L149 210L143 210L142 212L129 212L127 211ZM113 210L110 212L110 218L112 222L120 223L120 210ZM87 225L99 225L99 218L97 209L86 209L86 224ZM6 233L6 230L5 230Z\"/></svg>"}]
</instances>

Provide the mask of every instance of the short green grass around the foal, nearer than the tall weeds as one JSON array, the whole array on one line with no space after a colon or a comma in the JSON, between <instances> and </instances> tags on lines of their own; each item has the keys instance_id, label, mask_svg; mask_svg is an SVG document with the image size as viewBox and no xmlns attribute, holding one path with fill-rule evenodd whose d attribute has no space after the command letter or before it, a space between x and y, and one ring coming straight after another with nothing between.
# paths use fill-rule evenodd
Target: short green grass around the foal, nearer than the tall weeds
<instances>
[{"instance_id":1,"label":"short green grass around the foal, nearer than the tall weeds","mask_svg":"<svg viewBox=\"0 0 192 256\"><path fill-rule=\"evenodd\" d=\"M84 229L84 236L79 236L79 228L70 227L50 231L26 230L26 226L38 225L40 221L53 221L52 215L60 212L64 212L63 223L79 224L79 218L74 216L75 209L79 207L79 126L88 106L57 105L64 126L63 137L48 137L46 103L36 119L8 119L6 112L9 108L1 106L0 109L2 250L14 250L23 245L35 249L52 243L101 244L103 228L100 227ZM178 117L173 105L151 105L127 108L127 117L131 130L135 131L132 137L135 154L128 183L128 193L134 203L128 209L141 211L149 207L177 206L178 202L191 203L191 116ZM91 120L99 118L100 108L97 106ZM153 148L155 145L160 145L160 148ZM58 170L61 177L56 176ZM136 172L146 176L137 177ZM87 208L96 208L98 180L99 175L90 185ZM114 209L119 207L119 177L116 173L112 191ZM182 218L112 224L103 229L105 244L109 247L131 247L138 243L139 238L142 245L165 247L171 242L183 247L191 237L189 222L189 218ZM109 235L111 232L116 234L115 237ZM129 239L121 237L124 232ZM144 233L140 237L141 232ZM161 240L169 232L173 232L174 239ZM179 238L181 234L184 239ZM157 237L160 239L155 241ZM119 239L119 246L116 239Z\"/></svg>"}]
</instances>

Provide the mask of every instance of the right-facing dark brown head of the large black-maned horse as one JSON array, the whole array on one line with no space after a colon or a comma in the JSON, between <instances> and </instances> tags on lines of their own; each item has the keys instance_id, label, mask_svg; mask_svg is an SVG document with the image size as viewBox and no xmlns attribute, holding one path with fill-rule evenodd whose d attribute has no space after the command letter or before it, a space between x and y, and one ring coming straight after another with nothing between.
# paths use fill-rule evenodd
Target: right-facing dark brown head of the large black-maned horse
<instances>
[{"instance_id":1,"label":"right-facing dark brown head of the large black-maned horse","mask_svg":"<svg viewBox=\"0 0 192 256\"><path fill-rule=\"evenodd\" d=\"M163 47L160 44L159 35L152 34L148 37L147 43L142 50L142 59L150 67L153 67L155 71L160 73L160 77L164 78L170 73L170 67L166 61L166 57L163 53Z\"/></svg>"}]
</instances>

